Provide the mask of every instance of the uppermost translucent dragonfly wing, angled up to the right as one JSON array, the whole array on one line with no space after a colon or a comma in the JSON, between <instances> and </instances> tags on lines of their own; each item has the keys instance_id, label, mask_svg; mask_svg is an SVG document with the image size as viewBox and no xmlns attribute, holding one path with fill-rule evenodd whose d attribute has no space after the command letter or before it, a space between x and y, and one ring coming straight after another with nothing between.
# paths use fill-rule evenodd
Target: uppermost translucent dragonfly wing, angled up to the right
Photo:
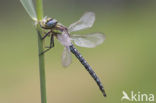
<instances>
[{"instance_id":1,"label":"uppermost translucent dragonfly wing, angled up to the right","mask_svg":"<svg viewBox=\"0 0 156 103\"><path fill-rule=\"evenodd\" d=\"M93 12L87 12L80 18L80 20L71 24L68 28L68 31L73 32L73 31L90 28L93 26L94 21L95 21L95 14Z\"/></svg>"}]
</instances>

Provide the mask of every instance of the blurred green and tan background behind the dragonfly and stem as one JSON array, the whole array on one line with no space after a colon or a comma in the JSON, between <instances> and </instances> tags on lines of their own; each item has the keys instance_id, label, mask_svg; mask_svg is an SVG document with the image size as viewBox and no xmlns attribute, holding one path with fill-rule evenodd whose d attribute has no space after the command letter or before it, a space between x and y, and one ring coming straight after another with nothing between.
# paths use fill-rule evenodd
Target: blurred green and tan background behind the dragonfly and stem
<instances>
[{"instance_id":1,"label":"blurred green and tan background behind the dragonfly and stem","mask_svg":"<svg viewBox=\"0 0 156 103\"><path fill-rule=\"evenodd\" d=\"M96 22L79 33L103 32L106 40L94 49L77 49L108 97L74 56L68 68L61 66L63 47L55 40L45 56L48 103L121 103L123 90L156 94L156 1L44 0L45 16L66 26L86 11L95 12ZM40 103L33 21L19 0L1 0L0 24L0 103Z\"/></svg>"}]
</instances>

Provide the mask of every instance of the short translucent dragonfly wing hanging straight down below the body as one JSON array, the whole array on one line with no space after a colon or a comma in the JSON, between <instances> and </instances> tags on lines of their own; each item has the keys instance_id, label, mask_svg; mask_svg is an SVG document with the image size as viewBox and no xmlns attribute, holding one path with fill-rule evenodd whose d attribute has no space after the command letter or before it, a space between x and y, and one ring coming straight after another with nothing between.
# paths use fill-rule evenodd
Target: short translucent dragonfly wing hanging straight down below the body
<instances>
[{"instance_id":1,"label":"short translucent dragonfly wing hanging straight down below the body","mask_svg":"<svg viewBox=\"0 0 156 103\"><path fill-rule=\"evenodd\" d=\"M62 54L62 65L63 67L67 67L71 64L72 58L71 58L71 52L69 47L64 47L64 51Z\"/></svg>"}]
</instances>

